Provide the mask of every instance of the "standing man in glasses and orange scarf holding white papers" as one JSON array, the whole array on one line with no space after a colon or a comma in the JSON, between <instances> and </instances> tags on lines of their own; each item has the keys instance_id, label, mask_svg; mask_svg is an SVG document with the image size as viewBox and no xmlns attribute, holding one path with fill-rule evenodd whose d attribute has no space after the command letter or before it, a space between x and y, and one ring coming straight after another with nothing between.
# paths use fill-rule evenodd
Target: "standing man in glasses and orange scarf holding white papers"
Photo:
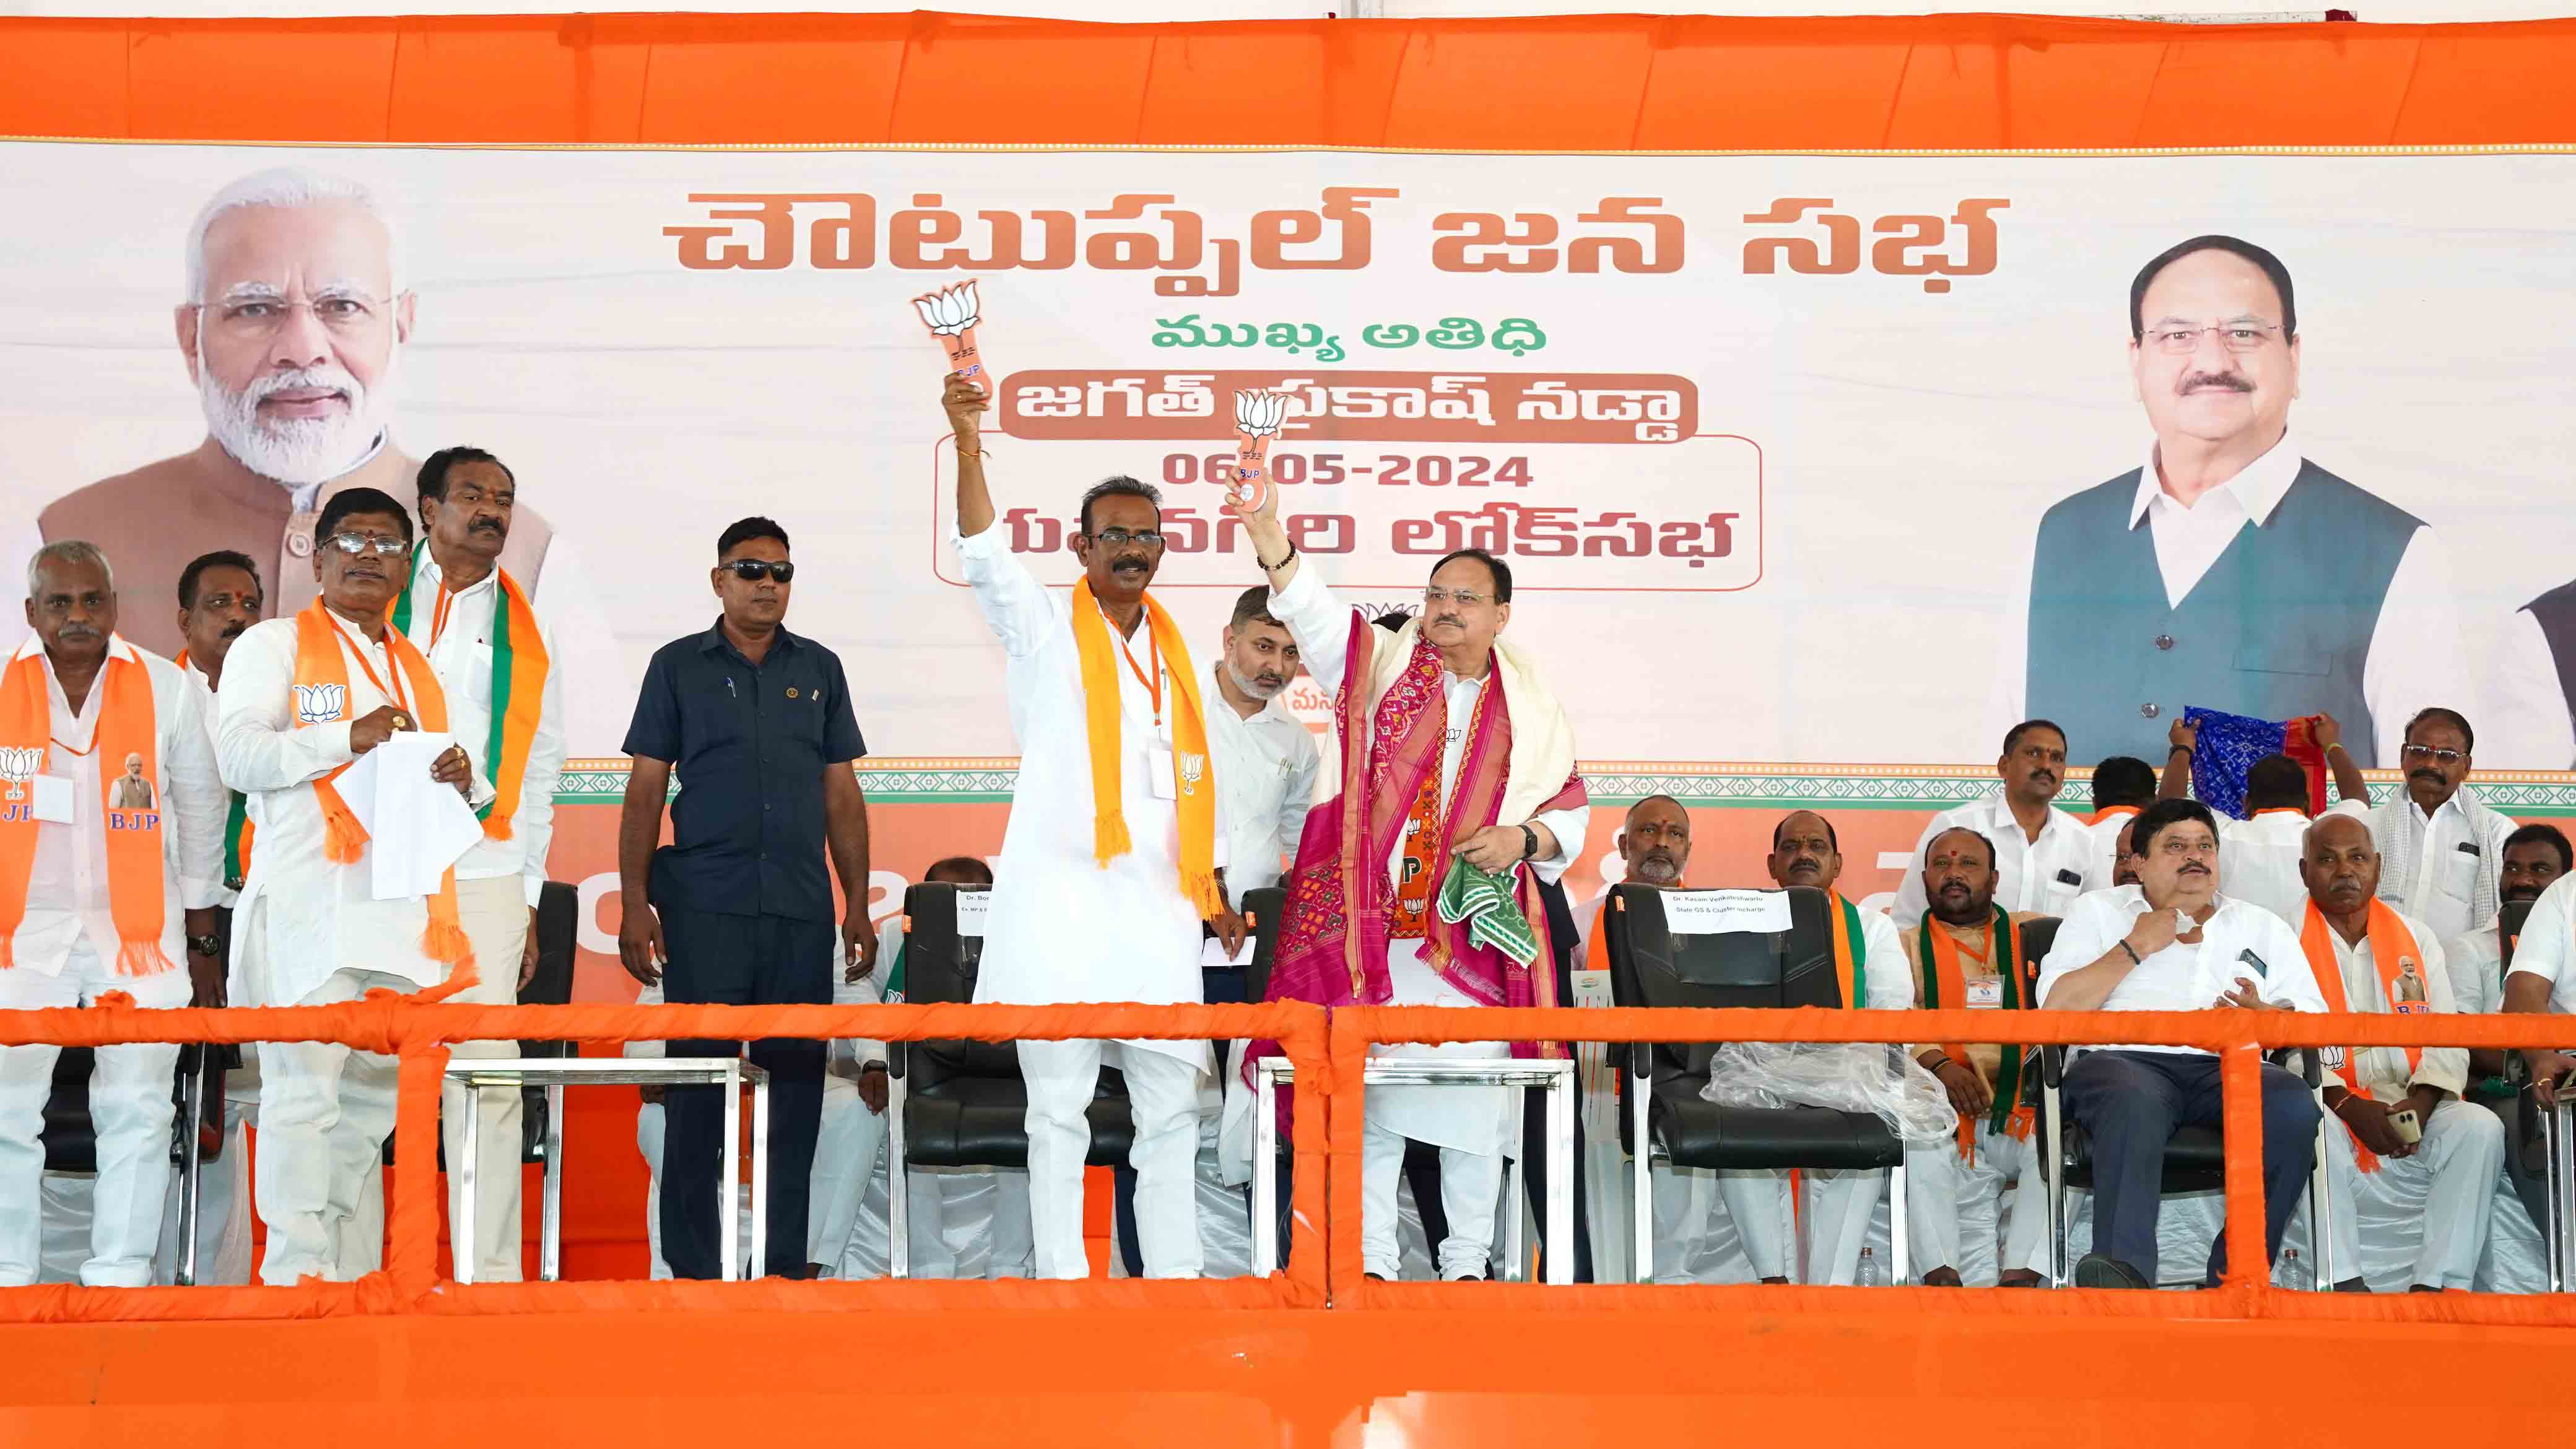
<instances>
[{"instance_id":1,"label":"standing man in glasses and orange scarf holding white papers","mask_svg":"<svg viewBox=\"0 0 2576 1449\"><path fill-rule=\"evenodd\" d=\"M438 676L386 621L412 521L389 495L350 487L322 508L317 539L322 596L294 619L250 627L224 657L216 763L250 797L258 833L234 913L240 1006L325 1006L379 985L417 993L471 982L477 969L456 871L428 897L376 900L374 835L335 784L397 732L446 732ZM456 745L438 753L430 779L469 802L492 794ZM399 825L379 817L376 828ZM384 1245L353 1222L392 1129L394 1057L332 1042L260 1047L263 1281L374 1269Z\"/></svg>"}]
</instances>

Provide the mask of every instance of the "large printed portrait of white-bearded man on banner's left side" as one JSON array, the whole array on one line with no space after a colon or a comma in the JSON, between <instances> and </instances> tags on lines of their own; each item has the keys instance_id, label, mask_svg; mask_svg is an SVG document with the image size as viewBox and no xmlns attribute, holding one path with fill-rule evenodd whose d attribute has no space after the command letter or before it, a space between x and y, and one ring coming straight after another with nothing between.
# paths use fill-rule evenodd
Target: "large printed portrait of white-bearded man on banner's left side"
<instances>
[{"instance_id":1,"label":"large printed portrait of white-bearded man on banner's left side","mask_svg":"<svg viewBox=\"0 0 2576 1449\"><path fill-rule=\"evenodd\" d=\"M41 539L93 539L157 590L191 557L229 549L273 570L281 616L312 603L330 498L374 487L412 505L420 464L394 443L392 415L417 304L397 263L392 219L358 180L273 168L216 191L188 229L188 291L173 312L206 438L57 498L0 547L23 559ZM510 572L536 588L554 554L546 521L523 513ZM562 588L587 596L580 580ZM549 601L556 614L569 603ZM605 621L587 598L582 608ZM152 652L183 645L167 614L134 624Z\"/></svg>"}]
</instances>

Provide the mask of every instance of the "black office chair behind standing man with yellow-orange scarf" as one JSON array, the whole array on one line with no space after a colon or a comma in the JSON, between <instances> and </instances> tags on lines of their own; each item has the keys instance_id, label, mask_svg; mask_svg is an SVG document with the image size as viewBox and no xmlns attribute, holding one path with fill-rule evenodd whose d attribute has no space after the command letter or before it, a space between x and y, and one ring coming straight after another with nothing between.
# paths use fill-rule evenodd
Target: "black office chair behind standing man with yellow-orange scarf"
<instances>
[{"instance_id":1,"label":"black office chair behind standing man with yellow-orange scarf","mask_svg":"<svg viewBox=\"0 0 2576 1449\"><path fill-rule=\"evenodd\" d=\"M958 902L989 897L984 887L922 882L904 892L904 1000L974 1000L984 964L984 931L958 928ZM1028 1168L1028 1083L1015 1042L886 1042L886 1075L902 1096L894 1111L889 1201L904 1201L907 1168ZM1123 1163L1136 1145L1126 1078L1100 1067L1084 1109L1092 1168ZM909 1276L907 1235L891 1245L891 1274Z\"/></svg>"}]
</instances>

